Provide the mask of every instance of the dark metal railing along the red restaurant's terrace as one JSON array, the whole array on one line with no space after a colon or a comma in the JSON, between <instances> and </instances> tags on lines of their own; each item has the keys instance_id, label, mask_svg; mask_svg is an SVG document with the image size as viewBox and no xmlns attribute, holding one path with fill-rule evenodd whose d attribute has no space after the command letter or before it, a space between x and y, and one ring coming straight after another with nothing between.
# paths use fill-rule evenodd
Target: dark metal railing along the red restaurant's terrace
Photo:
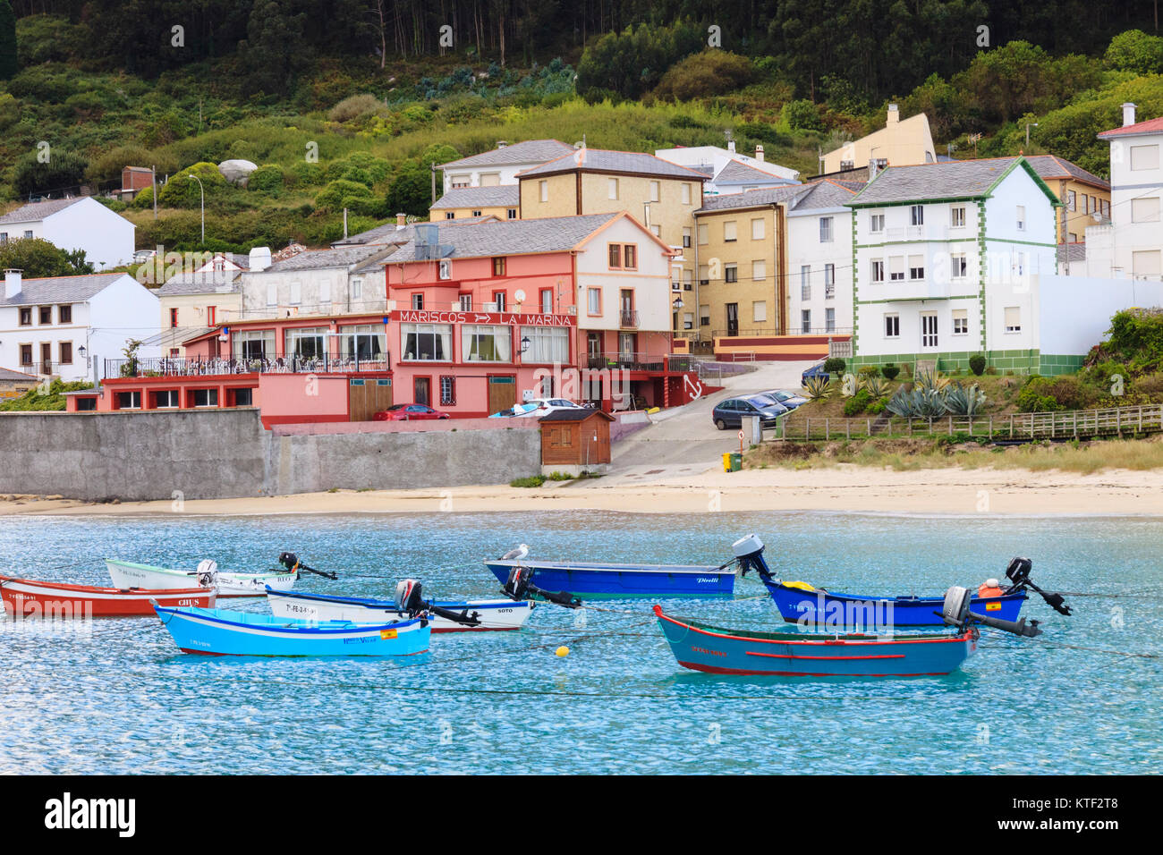
<instances>
[{"instance_id":1,"label":"dark metal railing along the red restaurant's terrace","mask_svg":"<svg viewBox=\"0 0 1163 855\"><path fill-rule=\"evenodd\" d=\"M179 359L173 357L106 359L106 377L200 377L217 375L295 375L295 373L361 373L388 371L388 352L359 357L348 354L320 356L286 356L276 359L212 357Z\"/></svg>"}]
</instances>

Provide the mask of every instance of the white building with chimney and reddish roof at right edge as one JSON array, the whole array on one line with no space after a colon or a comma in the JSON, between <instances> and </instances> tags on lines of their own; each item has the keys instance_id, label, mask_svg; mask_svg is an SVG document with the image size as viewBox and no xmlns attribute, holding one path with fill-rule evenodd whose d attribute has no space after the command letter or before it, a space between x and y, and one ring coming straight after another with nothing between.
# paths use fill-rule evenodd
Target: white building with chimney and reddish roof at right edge
<instances>
[{"instance_id":1,"label":"white building with chimney and reddish roof at right edge","mask_svg":"<svg viewBox=\"0 0 1163 855\"><path fill-rule=\"evenodd\" d=\"M1122 105L1111 143L1111 223L1086 229L1086 275L1163 280L1163 116L1135 121Z\"/></svg>"}]
</instances>

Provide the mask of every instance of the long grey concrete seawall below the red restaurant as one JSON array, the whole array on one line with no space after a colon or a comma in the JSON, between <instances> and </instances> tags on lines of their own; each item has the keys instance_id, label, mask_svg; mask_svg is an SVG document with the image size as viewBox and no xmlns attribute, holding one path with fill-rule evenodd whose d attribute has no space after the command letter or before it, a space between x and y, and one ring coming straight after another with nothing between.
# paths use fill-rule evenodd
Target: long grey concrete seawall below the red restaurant
<instances>
[{"instance_id":1,"label":"long grey concrete seawall below the red restaurant","mask_svg":"<svg viewBox=\"0 0 1163 855\"><path fill-rule=\"evenodd\" d=\"M105 501L501 484L537 430L276 435L257 409L0 415L0 493Z\"/></svg>"}]
</instances>

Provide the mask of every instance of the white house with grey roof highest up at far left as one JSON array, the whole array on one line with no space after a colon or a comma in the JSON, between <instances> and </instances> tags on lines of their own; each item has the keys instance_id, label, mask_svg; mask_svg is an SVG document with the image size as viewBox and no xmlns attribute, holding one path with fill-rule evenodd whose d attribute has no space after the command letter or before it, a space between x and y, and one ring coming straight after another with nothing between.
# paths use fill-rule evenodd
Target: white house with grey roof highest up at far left
<instances>
[{"instance_id":1,"label":"white house with grey roof highest up at far left","mask_svg":"<svg viewBox=\"0 0 1163 855\"><path fill-rule=\"evenodd\" d=\"M133 262L136 228L92 197L50 199L0 216L0 243L41 237L64 250L84 250L85 259L101 271Z\"/></svg>"}]
</instances>

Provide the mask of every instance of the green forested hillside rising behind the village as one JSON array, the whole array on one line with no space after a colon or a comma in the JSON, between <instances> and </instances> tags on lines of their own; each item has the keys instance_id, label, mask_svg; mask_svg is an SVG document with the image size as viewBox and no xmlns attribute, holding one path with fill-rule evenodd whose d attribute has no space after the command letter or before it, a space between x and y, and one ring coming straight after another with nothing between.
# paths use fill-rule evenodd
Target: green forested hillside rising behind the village
<instances>
[{"instance_id":1,"label":"green forested hillside rising behind the village","mask_svg":"<svg viewBox=\"0 0 1163 855\"><path fill-rule=\"evenodd\" d=\"M1119 105L1163 114L1157 3L1059 0L0 0L0 197L191 168L207 247L322 243L422 215L430 163L497 140L818 154L925 111L942 151L1106 172ZM15 50L13 50L13 43ZM45 158L44 151L51 156ZM262 164L247 188L227 158ZM208 177L209 180L206 180ZM193 187L193 190L192 190ZM115 202L115 207L120 207ZM198 244L197 185L126 211Z\"/></svg>"}]
</instances>

